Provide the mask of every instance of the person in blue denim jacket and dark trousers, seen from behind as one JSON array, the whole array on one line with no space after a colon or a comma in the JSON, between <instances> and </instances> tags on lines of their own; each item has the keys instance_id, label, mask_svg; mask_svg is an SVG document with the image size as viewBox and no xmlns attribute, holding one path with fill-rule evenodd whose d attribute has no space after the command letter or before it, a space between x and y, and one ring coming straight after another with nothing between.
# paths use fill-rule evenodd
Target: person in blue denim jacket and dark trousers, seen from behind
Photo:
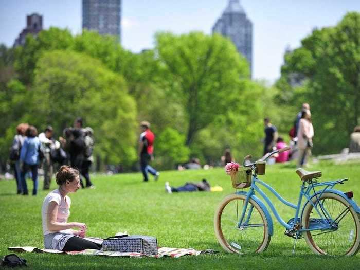
<instances>
[{"instance_id":1,"label":"person in blue denim jacket and dark trousers, seen from behind","mask_svg":"<svg viewBox=\"0 0 360 270\"><path fill-rule=\"evenodd\" d=\"M38 130L30 125L25 132L25 139L20 151L20 163L21 163L21 188L23 195L28 195L28 189L26 185L25 175L28 171L31 171L31 177L33 181L32 195L38 193L38 168L39 168L39 151L40 140L38 136Z\"/></svg>"}]
</instances>

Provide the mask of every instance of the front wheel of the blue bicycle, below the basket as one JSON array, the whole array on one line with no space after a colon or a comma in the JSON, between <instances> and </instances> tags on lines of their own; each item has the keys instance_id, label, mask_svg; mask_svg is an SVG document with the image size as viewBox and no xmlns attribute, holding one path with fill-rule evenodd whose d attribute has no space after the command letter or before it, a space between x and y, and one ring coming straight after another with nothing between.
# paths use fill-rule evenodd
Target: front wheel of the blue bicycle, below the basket
<instances>
[{"instance_id":1,"label":"front wheel of the blue bicycle, below the basket","mask_svg":"<svg viewBox=\"0 0 360 270\"><path fill-rule=\"evenodd\" d=\"M244 220L239 224L246 196L230 194L220 203L214 215L215 235L220 245L229 252L248 254L264 251L271 240L263 209L250 199Z\"/></svg>"}]
</instances>

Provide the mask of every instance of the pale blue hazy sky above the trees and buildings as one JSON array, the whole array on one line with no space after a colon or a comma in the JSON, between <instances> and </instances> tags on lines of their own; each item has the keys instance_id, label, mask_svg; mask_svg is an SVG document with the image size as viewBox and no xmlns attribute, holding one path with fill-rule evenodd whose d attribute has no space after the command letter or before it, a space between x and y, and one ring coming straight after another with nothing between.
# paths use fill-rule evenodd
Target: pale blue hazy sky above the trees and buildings
<instances>
[{"instance_id":1,"label":"pale blue hazy sky above the trees and buildings","mask_svg":"<svg viewBox=\"0 0 360 270\"><path fill-rule=\"evenodd\" d=\"M43 15L44 28L81 32L81 0L0 0L0 43L12 46L26 15ZM153 47L156 31L186 33L211 28L228 0L122 0L121 44L134 52ZM360 0L241 0L253 22L253 77L274 82L285 48L296 48L314 27L333 26Z\"/></svg>"}]
</instances>

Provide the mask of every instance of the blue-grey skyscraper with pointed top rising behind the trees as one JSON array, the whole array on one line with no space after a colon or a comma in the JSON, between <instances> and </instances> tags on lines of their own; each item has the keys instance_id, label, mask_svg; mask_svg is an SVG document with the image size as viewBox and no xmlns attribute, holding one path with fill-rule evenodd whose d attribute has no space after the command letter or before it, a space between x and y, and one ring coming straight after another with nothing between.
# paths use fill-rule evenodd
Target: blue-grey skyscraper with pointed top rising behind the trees
<instances>
[{"instance_id":1,"label":"blue-grey skyscraper with pointed top rising behind the trees","mask_svg":"<svg viewBox=\"0 0 360 270\"><path fill-rule=\"evenodd\" d=\"M239 0L229 0L222 16L212 27L212 33L220 33L229 37L236 48L253 66L253 23L246 17Z\"/></svg>"}]
</instances>

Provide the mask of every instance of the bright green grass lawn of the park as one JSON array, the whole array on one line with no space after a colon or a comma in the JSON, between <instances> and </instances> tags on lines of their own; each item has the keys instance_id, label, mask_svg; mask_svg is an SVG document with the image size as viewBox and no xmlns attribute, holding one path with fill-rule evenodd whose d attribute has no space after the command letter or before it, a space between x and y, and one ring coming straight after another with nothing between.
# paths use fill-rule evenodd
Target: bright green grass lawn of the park
<instances>
[{"instance_id":1,"label":"bright green grass lawn of the park","mask_svg":"<svg viewBox=\"0 0 360 270\"><path fill-rule=\"evenodd\" d=\"M262 178L286 200L297 202L301 181L295 166L275 165L266 168ZM360 203L360 164L332 165L320 163L309 170L321 170L321 180L349 178L337 188L354 192ZM165 181L179 186L187 181L208 179L220 185L223 192L194 192L167 194ZM114 176L94 176L96 189L79 190L71 197L69 221L84 222L87 235L113 236L117 231L129 234L156 236L159 246L212 248L217 255L173 258L104 258L91 256L62 256L49 254L20 254L30 269L359 269L360 253L354 257L330 258L316 256L299 240L292 255L293 239L284 236L284 228L273 216L274 236L262 254L239 256L228 254L218 244L213 230L213 214L222 198L234 192L230 177L224 169L161 172L158 182L141 182L140 173ZM42 188L42 181L39 187ZM32 183L28 181L31 192ZM57 188L55 181L51 188ZM0 255L10 254L9 246L43 247L41 205L47 192L37 196L15 195L15 181L0 181ZM268 192L267 192L268 194ZM281 217L293 217L292 209L274 199Z\"/></svg>"}]
</instances>

